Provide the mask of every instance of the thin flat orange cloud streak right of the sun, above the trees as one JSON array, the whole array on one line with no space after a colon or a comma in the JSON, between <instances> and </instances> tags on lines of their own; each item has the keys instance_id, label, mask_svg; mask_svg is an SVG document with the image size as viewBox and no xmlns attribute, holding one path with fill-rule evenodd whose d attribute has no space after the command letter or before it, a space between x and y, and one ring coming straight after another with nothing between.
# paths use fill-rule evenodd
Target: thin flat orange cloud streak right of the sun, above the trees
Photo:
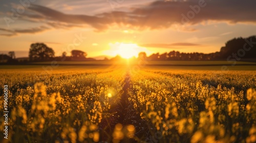
<instances>
[{"instance_id":1,"label":"thin flat orange cloud streak right of the sun, above the trees","mask_svg":"<svg viewBox=\"0 0 256 143\"><path fill-rule=\"evenodd\" d=\"M200 46L200 44L195 43L147 43L147 44L139 44L142 47L160 47L160 48L173 48L174 46Z\"/></svg>"}]
</instances>

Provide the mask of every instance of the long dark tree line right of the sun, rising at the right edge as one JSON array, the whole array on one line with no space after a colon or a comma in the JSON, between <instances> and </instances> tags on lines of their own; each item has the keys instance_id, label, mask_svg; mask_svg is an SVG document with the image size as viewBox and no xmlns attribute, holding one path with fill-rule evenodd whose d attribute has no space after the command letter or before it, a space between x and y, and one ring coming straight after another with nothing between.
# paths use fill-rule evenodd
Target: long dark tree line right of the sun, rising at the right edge
<instances>
[{"instance_id":1,"label":"long dark tree line right of the sun, rising at the right edge","mask_svg":"<svg viewBox=\"0 0 256 143\"><path fill-rule=\"evenodd\" d=\"M148 60L238 60L238 59L256 59L256 37L233 38L221 47L219 52L215 53L180 53L179 51L171 51L163 54L152 54L146 57ZM144 55L143 55L144 54Z\"/></svg>"}]
</instances>

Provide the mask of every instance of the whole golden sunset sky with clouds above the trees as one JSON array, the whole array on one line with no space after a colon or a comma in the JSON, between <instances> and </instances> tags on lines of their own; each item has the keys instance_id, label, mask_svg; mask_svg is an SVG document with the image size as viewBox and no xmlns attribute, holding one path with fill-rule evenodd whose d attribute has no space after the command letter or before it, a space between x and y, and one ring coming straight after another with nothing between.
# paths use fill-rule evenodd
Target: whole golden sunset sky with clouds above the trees
<instances>
[{"instance_id":1,"label":"whole golden sunset sky with clouds above the trees","mask_svg":"<svg viewBox=\"0 0 256 143\"><path fill-rule=\"evenodd\" d=\"M55 56L138 52L212 53L232 38L256 34L256 1L0 1L0 54L28 57L43 42Z\"/></svg>"}]
</instances>

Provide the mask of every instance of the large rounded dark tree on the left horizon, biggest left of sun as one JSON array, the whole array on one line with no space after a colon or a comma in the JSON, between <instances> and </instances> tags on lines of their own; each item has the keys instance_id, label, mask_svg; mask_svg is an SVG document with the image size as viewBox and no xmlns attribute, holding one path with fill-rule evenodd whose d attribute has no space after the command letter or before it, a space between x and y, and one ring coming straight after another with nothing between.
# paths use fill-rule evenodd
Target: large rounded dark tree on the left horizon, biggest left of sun
<instances>
[{"instance_id":1,"label":"large rounded dark tree on the left horizon, biggest left of sun","mask_svg":"<svg viewBox=\"0 0 256 143\"><path fill-rule=\"evenodd\" d=\"M29 49L29 59L33 60L49 60L54 57L54 51L44 43L33 43Z\"/></svg>"}]
</instances>

